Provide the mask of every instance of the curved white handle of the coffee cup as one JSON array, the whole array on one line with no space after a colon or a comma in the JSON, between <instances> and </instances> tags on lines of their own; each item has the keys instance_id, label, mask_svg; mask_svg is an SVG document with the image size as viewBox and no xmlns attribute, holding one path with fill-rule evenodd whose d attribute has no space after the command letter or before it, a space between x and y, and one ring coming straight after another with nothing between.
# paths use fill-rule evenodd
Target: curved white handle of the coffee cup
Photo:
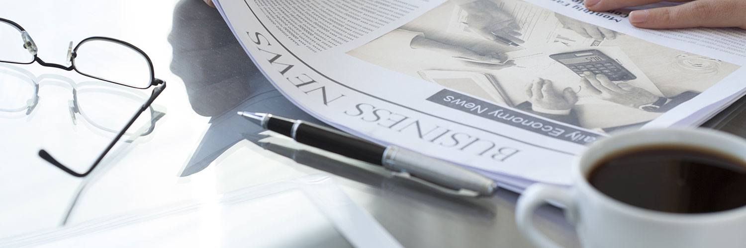
<instances>
[{"instance_id":1,"label":"curved white handle of the coffee cup","mask_svg":"<svg viewBox=\"0 0 746 248\"><path fill-rule=\"evenodd\" d=\"M565 216L574 222L575 203L567 188L536 183L521 194L516 206L515 223L518 224L518 229L537 247L561 247L533 226L533 212L549 201L565 206Z\"/></svg>"}]
</instances>

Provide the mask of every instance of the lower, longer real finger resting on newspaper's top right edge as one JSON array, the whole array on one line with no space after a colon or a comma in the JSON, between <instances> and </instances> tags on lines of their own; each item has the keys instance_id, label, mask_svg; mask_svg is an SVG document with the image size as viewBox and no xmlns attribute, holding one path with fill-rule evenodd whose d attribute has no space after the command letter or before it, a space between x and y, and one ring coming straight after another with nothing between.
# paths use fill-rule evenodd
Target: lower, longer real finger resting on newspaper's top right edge
<instances>
[{"instance_id":1,"label":"lower, longer real finger resting on newspaper's top right edge","mask_svg":"<svg viewBox=\"0 0 746 248\"><path fill-rule=\"evenodd\" d=\"M630 22L638 28L746 28L746 1L700 0L673 7L635 10Z\"/></svg>"}]
</instances>

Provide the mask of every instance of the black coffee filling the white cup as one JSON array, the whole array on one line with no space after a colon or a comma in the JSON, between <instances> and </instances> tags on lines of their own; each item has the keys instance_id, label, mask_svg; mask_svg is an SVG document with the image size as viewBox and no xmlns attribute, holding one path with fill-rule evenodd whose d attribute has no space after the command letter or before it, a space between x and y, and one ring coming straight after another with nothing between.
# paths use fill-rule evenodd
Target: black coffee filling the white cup
<instances>
[{"instance_id":1,"label":"black coffee filling the white cup","mask_svg":"<svg viewBox=\"0 0 746 248\"><path fill-rule=\"evenodd\" d=\"M624 150L601 159L588 178L609 197L645 209L706 213L746 206L746 164L695 147Z\"/></svg>"}]
</instances>

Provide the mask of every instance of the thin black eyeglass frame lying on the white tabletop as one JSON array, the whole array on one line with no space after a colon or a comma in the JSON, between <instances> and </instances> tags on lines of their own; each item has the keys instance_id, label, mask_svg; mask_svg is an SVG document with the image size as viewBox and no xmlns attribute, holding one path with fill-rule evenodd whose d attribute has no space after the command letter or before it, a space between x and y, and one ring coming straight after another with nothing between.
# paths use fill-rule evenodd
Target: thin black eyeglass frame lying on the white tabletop
<instances>
[{"instance_id":1,"label":"thin black eyeglass frame lying on the white tabletop","mask_svg":"<svg viewBox=\"0 0 746 248\"><path fill-rule=\"evenodd\" d=\"M132 44L130 44L128 42L125 42L125 41L122 41L122 40L119 40L119 39L113 39L113 38L109 38L109 37L103 37L103 36L93 36L93 37L89 37L89 38L83 39L81 42L78 43L78 45L75 46L75 49L73 49L72 51L70 51L69 60L72 63L72 65L71 66L63 66L63 65L59 65L59 64L55 64L55 63L46 63L46 62L44 62L44 60L40 59L40 57L38 56L37 46L34 43L34 40L31 39L31 36L28 36L28 32L25 31L25 29L23 27L21 27L21 25L18 25L16 22L13 22L13 21L10 21L10 20L4 19L4 18L0 18L0 22L5 22L5 23L13 26L14 28L16 28L16 29L18 29L20 31L20 33L22 34L22 36L28 37L28 39L24 38L24 42L25 43L23 44L23 47L26 48L26 49L28 49L29 52L34 55L34 60L31 61L31 62L28 62L28 63L0 60L0 62L2 62L2 63L13 63L13 64L28 65L28 64L32 64L32 63L36 62L36 63L39 63L41 66L52 67L52 68L57 68L57 69L63 69L65 71L75 71L75 72L78 72L79 74L82 74L82 75L84 75L86 77L92 77L92 78L95 78L97 80L103 80L105 82L114 83L114 84L117 84L117 85L120 85L120 86L126 86L126 87L130 87L130 88L134 88L134 89L149 89L151 87L154 87L153 91L151 92L150 98L148 98L148 101L145 101L145 103L142 104L142 106L140 107L140 109L132 116L132 118L130 119L130 121L128 121L128 123L125 125L125 127L122 128L122 130L119 131L119 133L117 133L116 137L114 137L114 139L107 145L106 149L98 156L98 158L95 160L95 162L93 162L93 165L90 165L90 167L88 168L88 170L85 171L84 173L78 173L76 171L73 171L72 169L70 169L67 166L63 165L62 163L58 162L57 159L54 159L54 157L51 156L51 154L49 154L46 150L44 150L44 149L39 150L39 156L42 159L46 160L51 165L54 165L55 167L60 168L60 170L65 171L67 174L70 174L70 175L72 175L74 177L86 177L91 172L93 172L93 169L95 169L96 166L98 166L98 164L101 163L101 160L103 160L104 157L106 156L106 154L109 153L109 151L114 147L114 145L116 145L116 142L119 142L119 139L122 139L122 136L124 136L125 133L127 132L127 130L132 126L132 124L134 124L134 122L137 121L137 118L140 117L140 115L142 115L142 112L145 112L145 110L149 109L150 106L151 106L151 104L153 104L153 101L155 101L155 99L158 97L158 95L160 95L160 93L163 92L163 89L166 89L166 82L163 81L163 80L155 78L155 73L154 73L154 69L153 69L153 62L150 59L150 57L148 57L148 54L145 54L145 52L142 51L142 49L137 48L136 46L134 46L134 45L132 45ZM75 68L75 56L76 56L76 52L78 51L78 48L80 48L81 45L85 44L86 42L90 42L90 41L94 41L94 40L103 40L103 41L107 41L107 42L119 43L120 45L125 45L126 47L131 48L134 51L137 51L138 53L140 53L142 55L142 57L144 57L145 60L148 61L148 68L150 69L149 72L150 72L150 80L151 80L150 84L148 86L146 86L146 87L131 86L131 85L128 85L128 84L125 84L125 83L117 83L117 82L114 82L112 80L107 80L107 79L104 79L104 78L101 78L101 77L95 77L93 75L86 74L84 72L78 71L78 69Z\"/></svg>"}]
</instances>

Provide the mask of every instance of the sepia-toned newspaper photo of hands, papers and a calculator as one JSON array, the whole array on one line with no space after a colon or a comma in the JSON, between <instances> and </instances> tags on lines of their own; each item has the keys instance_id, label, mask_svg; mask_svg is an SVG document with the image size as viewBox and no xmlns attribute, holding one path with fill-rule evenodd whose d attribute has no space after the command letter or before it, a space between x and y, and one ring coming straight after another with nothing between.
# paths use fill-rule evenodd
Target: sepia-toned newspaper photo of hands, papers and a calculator
<instances>
[{"instance_id":1,"label":"sepia-toned newspaper photo of hands, papers and a calculator","mask_svg":"<svg viewBox=\"0 0 746 248\"><path fill-rule=\"evenodd\" d=\"M642 127L740 67L521 0L462 2L446 1L348 54L601 133Z\"/></svg>"}]
</instances>

